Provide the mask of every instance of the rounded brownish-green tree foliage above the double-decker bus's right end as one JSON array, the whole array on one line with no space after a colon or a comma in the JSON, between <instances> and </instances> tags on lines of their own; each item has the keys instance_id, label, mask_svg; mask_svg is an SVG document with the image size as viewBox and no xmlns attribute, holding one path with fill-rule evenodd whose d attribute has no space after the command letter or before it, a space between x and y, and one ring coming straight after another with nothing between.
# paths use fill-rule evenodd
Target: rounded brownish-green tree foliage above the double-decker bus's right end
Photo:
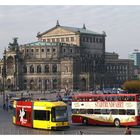
<instances>
[{"instance_id":1,"label":"rounded brownish-green tree foliage above the double-decker bus's right end","mask_svg":"<svg viewBox=\"0 0 140 140\"><path fill-rule=\"evenodd\" d=\"M126 81L122 87L128 93L140 93L140 80Z\"/></svg>"}]
</instances>

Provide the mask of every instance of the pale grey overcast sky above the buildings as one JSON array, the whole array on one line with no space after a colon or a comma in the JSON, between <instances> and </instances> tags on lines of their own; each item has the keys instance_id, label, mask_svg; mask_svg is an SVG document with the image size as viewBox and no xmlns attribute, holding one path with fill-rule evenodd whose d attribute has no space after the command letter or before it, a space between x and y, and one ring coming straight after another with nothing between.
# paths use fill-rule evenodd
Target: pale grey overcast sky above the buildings
<instances>
[{"instance_id":1,"label":"pale grey overcast sky above the buildings","mask_svg":"<svg viewBox=\"0 0 140 140\"><path fill-rule=\"evenodd\" d=\"M37 32L56 25L105 31L106 51L128 58L134 49L140 50L140 6L0 6L0 58L4 48L18 37L19 44L37 41Z\"/></svg>"}]
</instances>

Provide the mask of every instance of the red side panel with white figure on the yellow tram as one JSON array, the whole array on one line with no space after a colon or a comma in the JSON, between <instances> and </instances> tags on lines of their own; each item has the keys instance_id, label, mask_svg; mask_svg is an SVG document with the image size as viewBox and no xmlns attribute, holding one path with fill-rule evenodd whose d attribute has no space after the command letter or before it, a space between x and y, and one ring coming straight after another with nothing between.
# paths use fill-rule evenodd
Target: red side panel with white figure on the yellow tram
<instances>
[{"instance_id":1,"label":"red side panel with white figure on the yellow tram","mask_svg":"<svg viewBox=\"0 0 140 140\"><path fill-rule=\"evenodd\" d=\"M32 127L32 102L17 101L16 124Z\"/></svg>"}]
</instances>

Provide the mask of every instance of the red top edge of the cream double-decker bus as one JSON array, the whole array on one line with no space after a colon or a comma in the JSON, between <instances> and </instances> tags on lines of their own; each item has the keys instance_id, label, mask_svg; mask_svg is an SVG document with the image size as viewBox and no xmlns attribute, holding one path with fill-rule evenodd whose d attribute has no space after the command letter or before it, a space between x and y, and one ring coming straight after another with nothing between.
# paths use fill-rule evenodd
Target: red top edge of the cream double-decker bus
<instances>
[{"instance_id":1,"label":"red top edge of the cream double-decker bus","mask_svg":"<svg viewBox=\"0 0 140 140\"><path fill-rule=\"evenodd\" d=\"M119 94L94 94L94 93L81 93L81 94L76 94L76 95L73 95L72 97L73 98L82 98L82 97L87 97L87 98L90 98L90 97L96 97L96 96L136 96L136 95L139 95L139 94L135 94L135 93L119 93Z\"/></svg>"}]
</instances>

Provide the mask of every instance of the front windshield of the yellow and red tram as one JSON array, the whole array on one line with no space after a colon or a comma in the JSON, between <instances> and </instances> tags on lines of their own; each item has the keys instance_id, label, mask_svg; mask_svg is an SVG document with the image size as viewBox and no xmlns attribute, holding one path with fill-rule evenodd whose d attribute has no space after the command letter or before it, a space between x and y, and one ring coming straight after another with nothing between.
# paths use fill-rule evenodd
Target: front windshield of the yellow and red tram
<instances>
[{"instance_id":1,"label":"front windshield of the yellow and red tram","mask_svg":"<svg viewBox=\"0 0 140 140\"><path fill-rule=\"evenodd\" d=\"M68 121L67 107L59 106L52 108L52 121L53 122Z\"/></svg>"}]
</instances>

